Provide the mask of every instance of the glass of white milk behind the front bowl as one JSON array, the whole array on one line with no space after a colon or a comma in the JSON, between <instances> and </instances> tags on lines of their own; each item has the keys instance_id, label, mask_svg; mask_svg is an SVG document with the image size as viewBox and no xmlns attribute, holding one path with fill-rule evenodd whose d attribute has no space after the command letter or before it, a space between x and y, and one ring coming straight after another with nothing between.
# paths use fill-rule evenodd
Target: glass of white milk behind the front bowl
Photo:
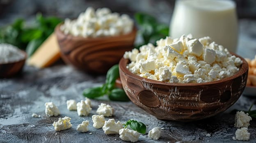
<instances>
[{"instance_id":1,"label":"glass of white milk behind the front bowl","mask_svg":"<svg viewBox=\"0 0 256 143\"><path fill-rule=\"evenodd\" d=\"M235 9L231 0L176 0L169 35L210 36L217 44L235 52L238 41Z\"/></svg>"}]
</instances>

